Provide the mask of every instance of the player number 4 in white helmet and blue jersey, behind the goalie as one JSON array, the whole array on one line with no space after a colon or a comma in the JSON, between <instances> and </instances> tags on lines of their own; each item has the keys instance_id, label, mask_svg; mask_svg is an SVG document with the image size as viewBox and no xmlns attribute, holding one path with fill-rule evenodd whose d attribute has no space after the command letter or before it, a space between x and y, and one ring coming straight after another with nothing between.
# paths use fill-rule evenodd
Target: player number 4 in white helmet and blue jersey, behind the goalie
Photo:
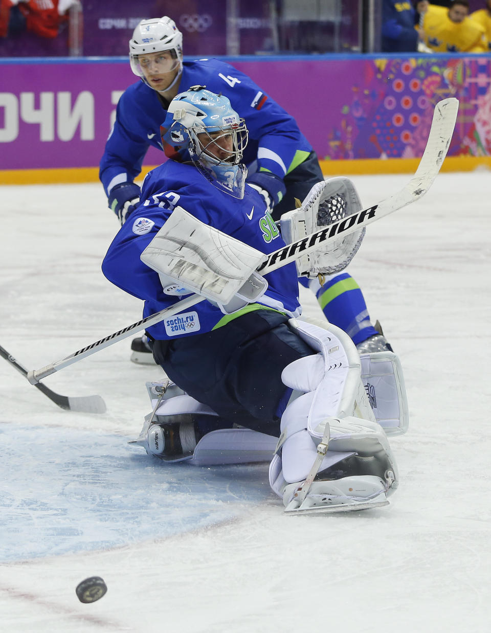
<instances>
[{"instance_id":1,"label":"player number 4 in white helmet and blue jersey, behind the goalie","mask_svg":"<svg viewBox=\"0 0 491 633\"><path fill-rule=\"evenodd\" d=\"M140 189L133 181L150 145L174 160L189 160L178 137L162 142L160 124L170 101L192 85L224 94L245 119L247 182L264 196L275 221L295 208L295 198L303 200L323 179L317 156L295 120L250 77L219 60L182 61L182 34L173 20L165 16L143 20L129 49L131 68L141 82L131 85L119 100L100 165L109 206L121 223L139 203ZM164 125L168 127L168 122ZM391 349L373 327L362 291L346 271L334 272L322 284L305 277L300 282L315 292L328 321L347 332L361 353ZM153 363L146 336L134 339L132 350L135 362Z\"/></svg>"}]
</instances>

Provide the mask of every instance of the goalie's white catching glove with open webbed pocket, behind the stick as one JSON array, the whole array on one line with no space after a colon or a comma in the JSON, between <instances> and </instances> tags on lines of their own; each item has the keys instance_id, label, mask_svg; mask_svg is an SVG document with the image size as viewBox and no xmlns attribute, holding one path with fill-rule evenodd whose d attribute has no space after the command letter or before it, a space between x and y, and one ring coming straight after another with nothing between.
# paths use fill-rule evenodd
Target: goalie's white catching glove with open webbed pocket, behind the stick
<instances>
[{"instance_id":1,"label":"goalie's white catching glove with open webbed pocket, behind the stick","mask_svg":"<svg viewBox=\"0 0 491 633\"><path fill-rule=\"evenodd\" d=\"M354 184L344 177L318 182L300 208L281 216L281 236L286 244L297 242L362 209ZM354 258L365 235L365 229L325 242L313 253L296 261L299 277L333 275L344 270Z\"/></svg>"}]
</instances>

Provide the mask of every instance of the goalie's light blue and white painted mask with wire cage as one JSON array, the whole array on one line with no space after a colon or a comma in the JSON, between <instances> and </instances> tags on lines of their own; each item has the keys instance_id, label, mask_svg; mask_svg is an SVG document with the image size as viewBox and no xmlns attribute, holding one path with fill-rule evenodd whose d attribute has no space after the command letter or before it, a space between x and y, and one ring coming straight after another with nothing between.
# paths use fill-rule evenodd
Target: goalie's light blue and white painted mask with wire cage
<instances>
[{"instance_id":1,"label":"goalie's light blue and white painted mask with wire cage","mask_svg":"<svg viewBox=\"0 0 491 633\"><path fill-rule=\"evenodd\" d=\"M249 133L227 97L192 86L170 102L165 127L165 141L174 145L187 141L191 158L208 179L212 175L219 188L243 197L247 170L241 161Z\"/></svg>"}]
</instances>

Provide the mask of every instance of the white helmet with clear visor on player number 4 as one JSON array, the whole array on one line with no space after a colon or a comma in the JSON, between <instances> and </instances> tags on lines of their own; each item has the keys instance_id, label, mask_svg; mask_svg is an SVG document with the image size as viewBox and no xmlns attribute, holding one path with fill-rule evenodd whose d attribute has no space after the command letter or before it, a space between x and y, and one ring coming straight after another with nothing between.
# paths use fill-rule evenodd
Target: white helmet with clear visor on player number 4
<instances>
[{"instance_id":1,"label":"white helmet with clear visor on player number 4","mask_svg":"<svg viewBox=\"0 0 491 633\"><path fill-rule=\"evenodd\" d=\"M152 18L151 20L142 20L135 28L131 40L129 41L129 55L131 70L137 77L148 84L143 70L139 62L139 56L151 53L160 53L162 51L170 51L174 63L169 67L168 71L179 68L177 75L168 90L175 84L177 78L182 72L182 33L175 26L174 20L167 16L162 18ZM150 85L150 84L148 84ZM150 86L151 87L151 86Z\"/></svg>"}]
</instances>

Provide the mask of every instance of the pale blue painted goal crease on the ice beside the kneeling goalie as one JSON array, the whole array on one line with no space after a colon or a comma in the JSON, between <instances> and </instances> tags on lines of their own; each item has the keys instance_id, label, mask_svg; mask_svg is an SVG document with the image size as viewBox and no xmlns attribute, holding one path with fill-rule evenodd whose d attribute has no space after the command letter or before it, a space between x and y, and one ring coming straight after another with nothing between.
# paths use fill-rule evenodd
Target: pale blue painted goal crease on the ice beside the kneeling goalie
<instances>
[{"instance_id":1,"label":"pale blue painted goal crease on the ice beside the kneeling goalie","mask_svg":"<svg viewBox=\"0 0 491 633\"><path fill-rule=\"evenodd\" d=\"M267 464L170 464L127 439L0 424L0 561L184 534L276 499Z\"/></svg>"}]
</instances>

